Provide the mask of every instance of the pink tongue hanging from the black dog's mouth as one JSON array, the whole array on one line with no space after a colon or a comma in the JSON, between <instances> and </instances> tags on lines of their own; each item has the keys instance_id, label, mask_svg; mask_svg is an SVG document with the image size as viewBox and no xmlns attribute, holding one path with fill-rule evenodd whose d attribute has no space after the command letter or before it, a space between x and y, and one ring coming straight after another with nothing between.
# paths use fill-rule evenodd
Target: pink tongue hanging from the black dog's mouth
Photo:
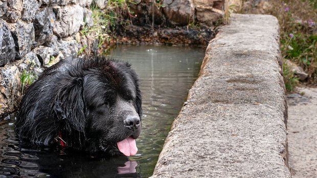
<instances>
[{"instance_id":1,"label":"pink tongue hanging from the black dog's mouth","mask_svg":"<svg viewBox=\"0 0 317 178\"><path fill-rule=\"evenodd\" d=\"M137 154L137 144L135 144L135 139L133 139L132 137L128 137L118 142L117 145L119 150L127 157Z\"/></svg>"}]
</instances>

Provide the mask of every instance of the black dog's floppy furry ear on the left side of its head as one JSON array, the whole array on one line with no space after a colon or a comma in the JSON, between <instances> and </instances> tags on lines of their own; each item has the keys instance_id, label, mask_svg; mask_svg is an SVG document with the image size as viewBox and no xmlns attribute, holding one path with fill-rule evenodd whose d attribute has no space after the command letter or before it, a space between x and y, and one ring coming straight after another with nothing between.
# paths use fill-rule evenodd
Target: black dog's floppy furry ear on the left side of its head
<instances>
[{"instance_id":1,"label":"black dog's floppy furry ear on the left side of its head","mask_svg":"<svg viewBox=\"0 0 317 178\"><path fill-rule=\"evenodd\" d=\"M84 132L86 125L85 104L83 98L83 79L73 78L61 82L53 107L61 125L68 131L75 129Z\"/></svg>"}]
</instances>

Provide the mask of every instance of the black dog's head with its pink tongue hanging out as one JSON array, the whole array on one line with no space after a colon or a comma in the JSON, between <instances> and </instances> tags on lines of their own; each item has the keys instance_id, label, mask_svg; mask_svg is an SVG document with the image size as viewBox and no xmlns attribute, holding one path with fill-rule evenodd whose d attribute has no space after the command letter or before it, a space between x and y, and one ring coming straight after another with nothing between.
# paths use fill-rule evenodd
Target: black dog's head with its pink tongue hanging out
<instances>
[{"instance_id":1,"label":"black dog's head with its pink tongue hanging out","mask_svg":"<svg viewBox=\"0 0 317 178\"><path fill-rule=\"evenodd\" d=\"M65 66L56 86L54 111L67 145L135 155L141 132L140 80L130 64L81 61ZM64 73L64 74L65 74Z\"/></svg>"}]
</instances>

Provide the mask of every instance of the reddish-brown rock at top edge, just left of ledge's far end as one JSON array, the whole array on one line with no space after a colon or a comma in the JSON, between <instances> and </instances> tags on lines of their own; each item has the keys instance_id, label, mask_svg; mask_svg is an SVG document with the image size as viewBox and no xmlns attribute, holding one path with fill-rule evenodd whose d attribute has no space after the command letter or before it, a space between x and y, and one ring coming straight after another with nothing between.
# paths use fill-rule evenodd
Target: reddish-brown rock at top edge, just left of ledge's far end
<instances>
[{"instance_id":1,"label":"reddish-brown rock at top edge, just left of ledge's far end","mask_svg":"<svg viewBox=\"0 0 317 178\"><path fill-rule=\"evenodd\" d=\"M193 4L196 7L196 18L199 23L212 27L214 22L222 18L221 10L224 6L222 0L195 0Z\"/></svg>"}]
</instances>

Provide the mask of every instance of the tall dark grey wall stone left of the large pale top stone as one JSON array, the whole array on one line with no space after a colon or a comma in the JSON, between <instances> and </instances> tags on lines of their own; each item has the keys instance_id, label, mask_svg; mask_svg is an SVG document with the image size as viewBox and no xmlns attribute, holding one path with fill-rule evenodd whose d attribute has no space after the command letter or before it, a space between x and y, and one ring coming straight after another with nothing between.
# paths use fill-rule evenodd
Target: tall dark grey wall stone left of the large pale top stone
<instances>
[{"instance_id":1,"label":"tall dark grey wall stone left of the large pale top stone","mask_svg":"<svg viewBox=\"0 0 317 178\"><path fill-rule=\"evenodd\" d=\"M33 26L37 45L44 44L53 35L55 20L55 14L52 8L41 9L36 14Z\"/></svg>"}]
</instances>

